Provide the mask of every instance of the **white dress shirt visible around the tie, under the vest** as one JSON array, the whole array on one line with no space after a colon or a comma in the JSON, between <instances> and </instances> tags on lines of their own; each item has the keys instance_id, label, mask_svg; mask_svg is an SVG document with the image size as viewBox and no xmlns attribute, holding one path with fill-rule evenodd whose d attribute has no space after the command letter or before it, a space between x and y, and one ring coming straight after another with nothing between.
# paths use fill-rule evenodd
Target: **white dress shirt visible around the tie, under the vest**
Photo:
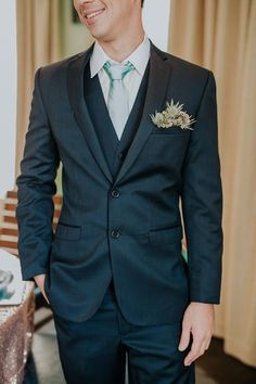
<instances>
[{"instance_id":1,"label":"white dress shirt visible around the tie, under the vest","mask_svg":"<svg viewBox=\"0 0 256 384\"><path fill-rule=\"evenodd\" d=\"M137 47L137 49L121 62L121 63L127 63L129 61L136 67L136 69L129 72L124 78L124 85L128 91L128 98L129 98L129 112L131 111L132 105L135 103L142 77L145 72L145 67L150 60L150 50L151 50L150 40L146 36L144 36L143 41ZM108 57L108 55L105 53L103 48L99 44L98 41L95 41L93 52L90 57L90 73L91 73L91 78L94 77L95 75L99 76L99 80L101 84L102 92L106 104L107 104L107 97L108 97L108 91L111 86L111 79L106 74L105 69L103 68L103 65L107 60L110 60L113 63L117 63L113 59Z\"/></svg>"}]
</instances>

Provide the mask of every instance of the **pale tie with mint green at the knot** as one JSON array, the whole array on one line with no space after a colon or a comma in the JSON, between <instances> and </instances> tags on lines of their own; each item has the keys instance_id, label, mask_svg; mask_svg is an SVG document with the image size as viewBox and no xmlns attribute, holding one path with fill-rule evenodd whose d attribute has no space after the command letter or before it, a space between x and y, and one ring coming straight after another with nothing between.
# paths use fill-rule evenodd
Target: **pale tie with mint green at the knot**
<instances>
[{"instance_id":1,"label":"pale tie with mint green at the knot","mask_svg":"<svg viewBox=\"0 0 256 384\"><path fill-rule=\"evenodd\" d=\"M126 64L115 64L107 61L103 68L111 79L107 108L116 135L120 140L129 116L129 97L123 80L130 71L135 69L135 66L130 62Z\"/></svg>"}]
</instances>

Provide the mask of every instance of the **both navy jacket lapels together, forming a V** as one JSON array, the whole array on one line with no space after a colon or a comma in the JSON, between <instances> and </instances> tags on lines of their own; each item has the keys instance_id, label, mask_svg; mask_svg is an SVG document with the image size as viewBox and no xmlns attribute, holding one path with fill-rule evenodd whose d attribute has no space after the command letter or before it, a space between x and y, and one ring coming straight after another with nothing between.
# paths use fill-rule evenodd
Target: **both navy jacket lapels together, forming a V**
<instances>
[{"instance_id":1,"label":"both navy jacket lapels together, forming a V","mask_svg":"<svg viewBox=\"0 0 256 384\"><path fill-rule=\"evenodd\" d=\"M84 95L84 69L89 61L92 49L93 44L86 53L82 53L71 61L67 68L67 89L75 118L87 141L87 144L91 150L99 167L102 169L103 174L111 181L111 183L113 183L113 176L108 169L104 154L97 138ZM171 69L172 68L170 63L167 61L167 56L159 53L158 49L151 43L150 76L142 118L124 163L116 176L115 182L118 182L124 178L125 174L133 164L149 139L151 130L153 129L150 115L156 110L161 110L163 106Z\"/></svg>"}]
</instances>

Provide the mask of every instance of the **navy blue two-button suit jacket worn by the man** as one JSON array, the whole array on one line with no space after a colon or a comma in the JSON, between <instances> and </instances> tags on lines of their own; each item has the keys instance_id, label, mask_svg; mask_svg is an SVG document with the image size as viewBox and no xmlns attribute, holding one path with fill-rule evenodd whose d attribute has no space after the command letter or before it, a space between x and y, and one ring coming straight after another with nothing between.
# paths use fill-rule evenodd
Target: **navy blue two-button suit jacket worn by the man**
<instances>
[{"instance_id":1,"label":"navy blue two-button suit jacket worn by the man","mask_svg":"<svg viewBox=\"0 0 256 384\"><path fill-rule=\"evenodd\" d=\"M151 43L142 118L113 178L84 97L91 51L39 68L35 76L17 178L23 278L46 273L53 311L74 321L95 312L112 278L131 323L180 321L190 302L218 304L220 297L215 79L212 72ZM196 119L193 130L152 123L150 115L171 99ZM63 206L53 233L60 161ZM181 207L188 263L181 256Z\"/></svg>"}]
</instances>

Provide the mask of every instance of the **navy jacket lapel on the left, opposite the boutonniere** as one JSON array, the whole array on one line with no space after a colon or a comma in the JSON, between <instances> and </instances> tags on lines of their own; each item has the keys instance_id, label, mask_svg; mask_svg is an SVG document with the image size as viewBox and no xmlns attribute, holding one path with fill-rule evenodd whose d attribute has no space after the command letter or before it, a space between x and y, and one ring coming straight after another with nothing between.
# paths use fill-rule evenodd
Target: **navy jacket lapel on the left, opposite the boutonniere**
<instances>
[{"instance_id":1,"label":"navy jacket lapel on the left, opposite the boutonniere","mask_svg":"<svg viewBox=\"0 0 256 384\"><path fill-rule=\"evenodd\" d=\"M102 169L105 177L112 183L113 176L104 158L104 154L97 138L97 133L90 119L90 115L85 101L84 71L90 59L93 44L88 49L86 53L82 53L71 61L67 68L67 90L75 119L78 123L78 126L95 162Z\"/></svg>"}]
</instances>

